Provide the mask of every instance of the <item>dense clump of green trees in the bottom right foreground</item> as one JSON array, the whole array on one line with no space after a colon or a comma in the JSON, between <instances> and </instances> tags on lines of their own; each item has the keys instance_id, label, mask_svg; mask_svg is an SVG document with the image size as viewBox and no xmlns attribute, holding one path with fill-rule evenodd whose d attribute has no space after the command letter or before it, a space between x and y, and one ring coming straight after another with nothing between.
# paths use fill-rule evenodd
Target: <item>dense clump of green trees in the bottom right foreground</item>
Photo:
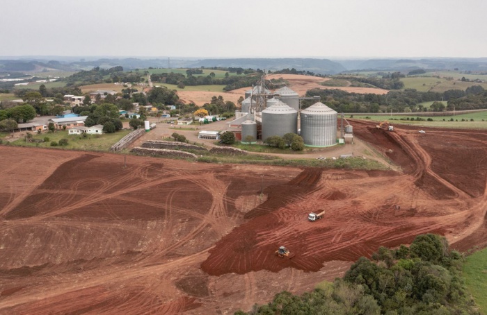
<instances>
[{"instance_id":1,"label":"dense clump of green trees in the bottom right foreground","mask_svg":"<svg viewBox=\"0 0 487 315\"><path fill-rule=\"evenodd\" d=\"M267 305L244 314L479 314L465 291L463 256L445 237L419 235L410 247L381 247L361 257L335 282L323 282L301 296L283 291Z\"/></svg>"}]
</instances>

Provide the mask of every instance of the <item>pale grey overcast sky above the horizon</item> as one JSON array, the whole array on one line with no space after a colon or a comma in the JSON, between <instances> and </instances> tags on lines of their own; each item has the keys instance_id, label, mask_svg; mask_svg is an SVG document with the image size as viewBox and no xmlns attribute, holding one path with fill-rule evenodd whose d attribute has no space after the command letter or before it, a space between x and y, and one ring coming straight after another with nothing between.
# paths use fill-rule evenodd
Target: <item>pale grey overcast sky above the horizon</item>
<instances>
[{"instance_id":1,"label":"pale grey overcast sky above the horizon","mask_svg":"<svg viewBox=\"0 0 487 315\"><path fill-rule=\"evenodd\" d=\"M487 57L486 0L0 0L0 56Z\"/></svg>"}]
</instances>

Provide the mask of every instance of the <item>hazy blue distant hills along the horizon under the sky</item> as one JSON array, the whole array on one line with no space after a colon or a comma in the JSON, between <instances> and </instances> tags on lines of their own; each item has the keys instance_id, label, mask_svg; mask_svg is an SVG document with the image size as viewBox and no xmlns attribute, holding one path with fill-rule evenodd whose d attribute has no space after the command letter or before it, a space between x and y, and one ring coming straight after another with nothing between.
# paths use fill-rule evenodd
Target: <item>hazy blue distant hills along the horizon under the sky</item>
<instances>
[{"instance_id":1,"label":"hazy blue distant hills along the horizon under the sky","mask_svg":"<svg viewBox=\"0 0 487 315\"><path fill-rule=\"evenodd\" d=\"M346 71L402 71L414 69L481 71L487 73L487 58L381 58L342 59L319 58L67 58L48 56L17 57L0 60L0 73L39 71L79 71L94 67L109 69L122 66L126 70L152 68L241 67L244 69L296 69L315 74L339 74Z\"/></svg>"}]
</instances>

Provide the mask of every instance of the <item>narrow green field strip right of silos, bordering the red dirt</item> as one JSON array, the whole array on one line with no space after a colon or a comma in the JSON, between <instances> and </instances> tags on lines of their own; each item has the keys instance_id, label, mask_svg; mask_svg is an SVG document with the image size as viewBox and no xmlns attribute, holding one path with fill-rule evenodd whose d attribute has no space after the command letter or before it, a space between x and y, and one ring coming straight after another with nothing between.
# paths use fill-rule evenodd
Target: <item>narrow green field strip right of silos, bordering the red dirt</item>
<instances>
[{"instance_id":1,"label":"narrow green field strip right of silos, bordering the red dirt","mask_svg":"<svg viewBox=\"0 0 487 315\"><path fill-rule=\"evenodd\" d=\"M347 117L348 116L348 117ZM346 115L346 118L349 118ZM366 119L371 121L384 121L387 120L392 126L407 124L413 126L424 126L424 127L437 127L437 128L459 128L459 129L487 129L487 111L484 112L474 112L471 114L457 114L453 116L439 116L439 117L422 117L423 119L431 118L433 121L416 121L416 120L399 120L399 119L415 119L413 113L409 115L392 115L392 116L380 116L380 115L353 115L353 119ZM450 121L450 119L454 121ZM443 121L445 119L445 121ZM464 119L465 121L461 121ZM470 121L474 119L474 121ZM482 121L484 119L484 121ZM353 125L353 124L352 124Z\"/></svg>"}]
</instances>

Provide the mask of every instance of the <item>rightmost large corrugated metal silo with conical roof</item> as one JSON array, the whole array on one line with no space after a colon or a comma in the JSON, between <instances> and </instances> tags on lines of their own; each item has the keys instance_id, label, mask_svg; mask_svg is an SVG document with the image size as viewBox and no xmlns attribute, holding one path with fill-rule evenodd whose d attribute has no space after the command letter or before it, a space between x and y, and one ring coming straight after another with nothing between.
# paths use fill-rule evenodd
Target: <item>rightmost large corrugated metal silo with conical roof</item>
<instances>
[{"instance_id":1,"label":"rightmost large corrugated metal silo with conical roof","mask_svg":"<svg viewBox=\"0 0 487 315\"><path fill-rule=\"evenodd\" d=\"M337 144L337 112L321 102L301 110L301 137L306 146Z\"/></svg>"}]
</instances>

